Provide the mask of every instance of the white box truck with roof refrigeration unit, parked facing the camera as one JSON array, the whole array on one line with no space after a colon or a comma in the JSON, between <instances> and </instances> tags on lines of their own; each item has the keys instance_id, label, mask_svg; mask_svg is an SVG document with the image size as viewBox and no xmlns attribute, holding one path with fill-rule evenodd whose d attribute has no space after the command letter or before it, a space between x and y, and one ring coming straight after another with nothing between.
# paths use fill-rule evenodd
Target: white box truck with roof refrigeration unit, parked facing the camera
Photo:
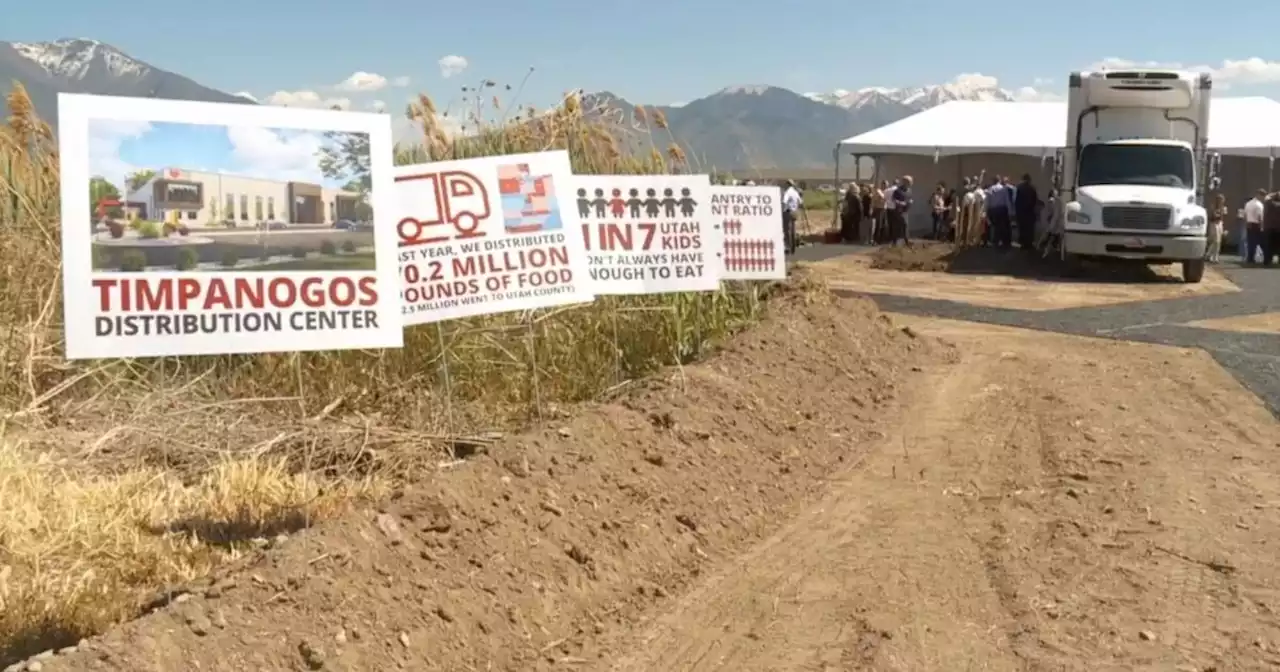
<instances>
[{"instance_id":1,"label":"white box truck with roof refrigeration unit, parked facing the camera","mask_svg":"<svg viewBox=\"0 0 1280 672\"><path fill-rule=\"evenodd\" d=\"M1071 74L1055 170L1065 256L1180 262L1185 282L1201 280L1220 163L1208 151L1211 88L1194 72Z\"/></svg>"}]
</instances>

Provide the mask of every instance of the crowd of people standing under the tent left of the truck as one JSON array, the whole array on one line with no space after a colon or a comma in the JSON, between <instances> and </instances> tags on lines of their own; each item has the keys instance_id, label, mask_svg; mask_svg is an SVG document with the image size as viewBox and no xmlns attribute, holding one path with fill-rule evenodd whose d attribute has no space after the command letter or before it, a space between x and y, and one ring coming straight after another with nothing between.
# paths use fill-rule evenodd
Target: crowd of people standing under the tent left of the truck
<instances>
[{"instance_id":1,"label":"crowd of people standing under the tent left of the truck","mask_svg":"<svg viewBox=\"0 0 1280 672\"><path fill-rule=\"evenodd\" d=\"M840 237L847 243L897 244L910 242L908 212L914 202L911 175L882 180L851 183L844 189L840 212ZM965 178L960 187L938 182L929 195L932 218L931 238L966 244L1033 250L1036 232L1046 210L1046 201L1032 182L1023 175L1016 184L1007 175Z\"/></svg>"}]
</instances>

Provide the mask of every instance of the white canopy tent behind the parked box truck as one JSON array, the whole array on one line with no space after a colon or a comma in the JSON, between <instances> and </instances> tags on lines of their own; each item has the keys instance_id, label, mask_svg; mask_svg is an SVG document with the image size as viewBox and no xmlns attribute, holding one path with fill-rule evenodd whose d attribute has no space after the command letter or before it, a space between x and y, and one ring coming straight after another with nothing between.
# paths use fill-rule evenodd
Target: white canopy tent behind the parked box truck
<instances>
[{"instance_id":1,"label":"white canopy tent behind the parked box truck","mask_svg":"<svg viewBox=\"0 0 1280 672\"><path fill-rule=\"evenodd\" d=\"M877 177L913 175L922 191L937 182L956 184L980 172L1015 180L1030 174L1046 186L1052 178L1053 155L1066 142L1066 102L946 102L840 141L836 182L842 179L841 156L854 155L876 159ZM1228 202L1243 204L1254 189L1274 188L1280 102L1215 97L1208 142L1224 156L1220 177ZM916 198L916 207L927 207L924 201ZM916 218L913 212L913 220Z\"/></svg>"}]
</instances>

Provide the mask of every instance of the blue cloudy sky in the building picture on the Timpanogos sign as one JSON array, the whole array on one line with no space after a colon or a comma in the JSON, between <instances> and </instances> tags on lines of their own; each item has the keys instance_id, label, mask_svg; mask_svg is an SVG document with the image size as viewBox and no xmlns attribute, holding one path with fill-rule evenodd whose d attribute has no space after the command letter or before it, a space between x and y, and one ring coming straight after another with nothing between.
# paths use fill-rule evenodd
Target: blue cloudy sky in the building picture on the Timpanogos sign
<instances>
[{"instance_id":1,"label":"blue cloudy sky in the building picture on the Timpanogos sign","mask_svg":"<svg viewBox=\"0 0 1280 672\"><path fill-rule=\"evenodd\" d=\"M315 131L96 119L88 133L90 173L113 183L133 170L164 168L335 187L346 182L321 174L316 152L328 142Z\"/></svg>"}]
</instances>

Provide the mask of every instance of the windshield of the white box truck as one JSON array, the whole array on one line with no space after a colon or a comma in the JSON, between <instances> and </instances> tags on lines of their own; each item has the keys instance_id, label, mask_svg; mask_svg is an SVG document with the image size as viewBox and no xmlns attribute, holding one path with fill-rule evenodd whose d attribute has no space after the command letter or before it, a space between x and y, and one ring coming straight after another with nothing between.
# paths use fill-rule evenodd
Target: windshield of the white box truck
<instances>
[{"instance_id":1,"label":"windshield of the white box truck","mask_svg":"<svg viewBox=\"0 0 1280 672\"><path fill-rule=\"evenodd\" d=\"M1174 145L1085 145L1080 150L1080 186L1196 186L1196 160Z\"/></svg>"}]
</instances>

